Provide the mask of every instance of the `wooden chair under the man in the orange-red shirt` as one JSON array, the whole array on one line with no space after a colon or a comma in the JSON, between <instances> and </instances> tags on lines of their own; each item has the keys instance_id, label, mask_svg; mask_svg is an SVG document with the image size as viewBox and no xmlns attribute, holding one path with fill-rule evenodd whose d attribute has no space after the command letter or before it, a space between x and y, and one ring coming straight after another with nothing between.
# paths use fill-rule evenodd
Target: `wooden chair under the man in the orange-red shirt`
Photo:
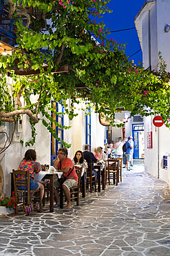
<instances>
[{"instance_id":1,"label":"wooden chair under the man in the orange-red shirt","mask_svg":"<svg viewBox=\"0 0 170 256\"><path fill-rule=\"evenodd\" d=\"M70 199L76 201L76 205L79 205L79 192L81 185L81 172L83 167L75 166L76 174L78 176L78 184L70 188Z\"/></svg>"}]
</instances>

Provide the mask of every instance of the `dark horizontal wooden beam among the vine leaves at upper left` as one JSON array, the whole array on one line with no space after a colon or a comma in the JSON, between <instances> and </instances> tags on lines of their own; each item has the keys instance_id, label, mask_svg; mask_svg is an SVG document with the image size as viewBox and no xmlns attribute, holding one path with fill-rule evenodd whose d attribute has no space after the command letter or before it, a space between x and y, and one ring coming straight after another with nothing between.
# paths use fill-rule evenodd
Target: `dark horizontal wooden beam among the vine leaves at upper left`
<instances>
[{"instance_id":1,"label":"dark horizontal wooden beam among the vine leaves at upper left","mask_svg":"<svg viewBox=\"0 0 170 256\"><path fill-rule=\"evenodd\" d=\"M47 66L43 66L43 70L46 72L47 71ZM59 66L57 71L55 71L55 68L52 68L51 73L65 73L69 72L69 66ZM15 75L39 75L40 74L40 69L31 69L28 71L15 71Z\"/></svg>"}]
</instances>

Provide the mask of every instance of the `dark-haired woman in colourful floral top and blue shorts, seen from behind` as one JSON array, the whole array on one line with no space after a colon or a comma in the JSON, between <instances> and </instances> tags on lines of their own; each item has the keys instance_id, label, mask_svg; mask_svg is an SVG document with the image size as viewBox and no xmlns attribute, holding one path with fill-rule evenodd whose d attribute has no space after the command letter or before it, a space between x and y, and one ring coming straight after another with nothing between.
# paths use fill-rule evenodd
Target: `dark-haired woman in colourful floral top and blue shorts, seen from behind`
<instances>
[{"instance_id":1,"label":"dark-haired woman in colourful floral top and blue shorts, seen from behind","mask_svg":"<svg viewBox=\"0 0 170 256\"><path fill-rule=\"evenodd\" d=\"M30 190L37 190L41 188L41 197L43 199L44 186L43 184L34 181L34 173L39 173L41 171L41 164L36 162L36 152L34 149L28 149L25 152L24 158L19 164L19 170L30 172ZM24 186L17 186L19 190L24 190ZM30 192L30 198L32 198L34 192ZM39 203L36 204L36 210L39 211Z\"/></svg>"}]
</instances>

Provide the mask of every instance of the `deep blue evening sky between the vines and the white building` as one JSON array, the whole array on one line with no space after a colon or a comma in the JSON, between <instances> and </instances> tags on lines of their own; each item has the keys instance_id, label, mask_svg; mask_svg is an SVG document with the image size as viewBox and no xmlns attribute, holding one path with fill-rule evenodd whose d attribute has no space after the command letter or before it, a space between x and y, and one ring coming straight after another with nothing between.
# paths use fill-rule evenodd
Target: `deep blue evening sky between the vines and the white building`
<instances>
[{"instance_id":1,"label":"deep blue evening sky between the vines and the white building","mask_svg":"<svg viewBox=\"0 0 170 256\"><path fill-rule=\"evenodd\" d=\"M104 21L106 27L111 28L111 31L134 28L134 18L144 3L145 0L111 0L107 6L113 12L103 15L100 20ZM140 50L136 29L111 33L107 38L113 38L123 44L127 43L125 52L129 56ZM129 60L134 60L136 64L138 64L138 61L142 62L142 51L130 57Z\"/></svg>"}]
</instances>

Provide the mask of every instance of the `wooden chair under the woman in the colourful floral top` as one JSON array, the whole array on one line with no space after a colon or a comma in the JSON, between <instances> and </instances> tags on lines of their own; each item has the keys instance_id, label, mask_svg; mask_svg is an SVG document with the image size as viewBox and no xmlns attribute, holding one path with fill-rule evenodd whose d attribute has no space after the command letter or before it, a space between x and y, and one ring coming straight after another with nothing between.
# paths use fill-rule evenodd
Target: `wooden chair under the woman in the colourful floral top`
<instances>
[{"instance_id":1,"label":"wooden chair under the woman in the colourful floral top","mask_svg":"<svg viewBox=\"0 0 170 256\"><path fill-rule=\"evenodd\" d=\"M13 180L14 180L14 194L17 197L23 199L24 198L24 192L26 196L26 203L30 204L30 192L39 192L39 203L40 203L40 212L43 212L42 210L42 199L41 199L41 189L37 188L37 190L30 190L30 172L29 171L20 171L20 170L12 170L13 173ZM23 186L27 188L27 190L19 190L17 186ZM18 196L19 194L19 196ZM34 196L35 198L35 196ZM16 214L18 213L18 207L19 205L23 205L23 201L16 203Z\"/></svg>"}]
</instances>

